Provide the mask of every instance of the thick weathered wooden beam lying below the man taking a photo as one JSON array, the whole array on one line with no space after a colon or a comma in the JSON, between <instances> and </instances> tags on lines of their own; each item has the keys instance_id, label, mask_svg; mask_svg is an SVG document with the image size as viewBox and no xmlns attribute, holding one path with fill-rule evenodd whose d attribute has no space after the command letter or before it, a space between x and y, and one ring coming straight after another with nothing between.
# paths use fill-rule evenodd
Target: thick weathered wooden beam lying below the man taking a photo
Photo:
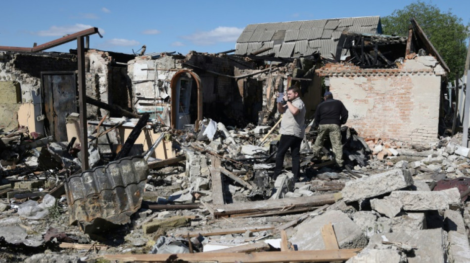
<instances>
[{"instance_id":1,"label":"thick weathered wooden beam lying below the man taking a photo","mask_svg":"<svg viewBox=\"0 0 470 263\"><path fill-rule=\"evenodd\" d=\"M223 217L235 214L264 213L269 211L284 211L286 208L297 209L302 207L322 206L335 202L333 194L314 196L301 196L296 198L268 199L253 202L241 202L226 205L213 205L214 217Z\"/></svg>"}]
</instances>

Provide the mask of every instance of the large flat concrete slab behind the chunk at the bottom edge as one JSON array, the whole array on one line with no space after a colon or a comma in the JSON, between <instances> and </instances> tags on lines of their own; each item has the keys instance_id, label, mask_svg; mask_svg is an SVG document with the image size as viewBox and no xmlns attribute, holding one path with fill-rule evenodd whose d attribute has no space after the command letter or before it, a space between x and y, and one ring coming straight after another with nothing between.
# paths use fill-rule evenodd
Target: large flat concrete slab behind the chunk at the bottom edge
<instances>
[{"instance_id":1,"label":"large flat concrete slab behind the chunk at the bottom edge","mask_svg":"<svg viewBox=\"0 0 470 263\"><path fill-rule=\"evenodd\" d=\"M368 248L375 248L382 243L382 235L389 242L405 243L417 247L415 256L408 255L408 263L443 263L444 232L441 228L416 230L413 232L393 232L376 234L371 237Z\"/></svg>"}]
</instances>

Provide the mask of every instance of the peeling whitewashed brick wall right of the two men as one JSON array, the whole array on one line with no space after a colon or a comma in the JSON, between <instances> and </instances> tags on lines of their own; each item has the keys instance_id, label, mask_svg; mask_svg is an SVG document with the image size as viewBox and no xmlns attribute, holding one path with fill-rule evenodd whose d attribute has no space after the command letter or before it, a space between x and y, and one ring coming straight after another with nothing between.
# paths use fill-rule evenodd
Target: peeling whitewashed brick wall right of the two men
<instances>
[{"instance_id":1,"label":"peeling whitewashed brick wall right of the two men","mask_svg":"<svg viewBox=\"0 0 470 263\"><path fill-rule=\"evenodd\" d=\"M437 139L441 76L432 68L359 69L329 65L329 90L361 136L424 143Z\"/></svg>"}]
</instances>

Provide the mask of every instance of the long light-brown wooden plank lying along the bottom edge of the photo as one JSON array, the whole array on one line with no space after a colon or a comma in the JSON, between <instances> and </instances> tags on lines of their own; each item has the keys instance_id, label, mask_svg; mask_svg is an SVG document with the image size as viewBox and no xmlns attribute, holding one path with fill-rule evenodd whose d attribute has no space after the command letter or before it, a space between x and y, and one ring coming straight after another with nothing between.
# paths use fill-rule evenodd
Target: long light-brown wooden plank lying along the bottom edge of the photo
<instances>
[{"instance_id":1,"label":"long light-brown wooden plank lying along the bottom edge of the photo","mask_svg":"<svg viewBox=\"0 0 470 263\"><path fill-rule=\"evenodd\" d=\"M275 263L275 262L330 262L346 261L361 249L304 250L290 252L255 252L255 253L184 253L184 254L136 254L103 255L106 260L134 262L207 262L219 263Z\"/></svg>"}]
</instances>

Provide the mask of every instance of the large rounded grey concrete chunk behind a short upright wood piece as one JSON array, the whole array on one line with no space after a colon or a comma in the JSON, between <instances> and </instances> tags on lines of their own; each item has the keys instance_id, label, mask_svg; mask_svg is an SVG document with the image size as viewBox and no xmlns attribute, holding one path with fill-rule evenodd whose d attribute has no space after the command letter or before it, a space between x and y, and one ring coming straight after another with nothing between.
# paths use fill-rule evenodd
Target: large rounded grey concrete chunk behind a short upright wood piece
<instances>
[{"instance_id":1,"label":"large rounded grey concrete chunk behind a short upright wood piece","mask_svg":"<svg viewBox=\"0 0 470 263\"><path fill-rule=\"evenodd\" d=\"M336 210L329 210L295 227L297 232L290 242L298 250L324 250L321 228L329 223L333 224L339 248L362 248L366 245L367 238L362 229L347 214Z\"/></svg>"}]
</instances>

